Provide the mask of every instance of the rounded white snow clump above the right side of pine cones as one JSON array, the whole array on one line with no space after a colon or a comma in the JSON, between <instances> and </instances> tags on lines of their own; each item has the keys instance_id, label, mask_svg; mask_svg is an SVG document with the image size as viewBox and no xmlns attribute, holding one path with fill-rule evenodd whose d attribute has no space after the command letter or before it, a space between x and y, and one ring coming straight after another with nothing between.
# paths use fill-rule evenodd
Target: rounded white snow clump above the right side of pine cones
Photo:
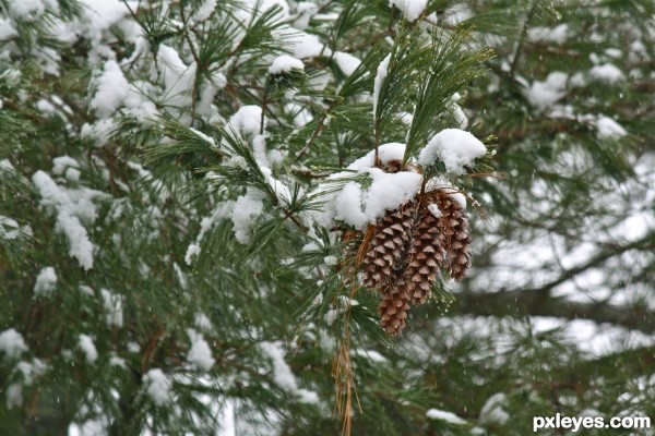
<instances>
[{"instance_id":1,"label":"rounded white snow clump above the right side of pine cones","mask_svg":"<svg viewBox=\"0 0 655 436\"><path fill-rule=\"evenodd\" d=\"M464 167L481 157L487 147L471 132L460 129L445 129L437 133L420 152L418 164L429 167L437 159L445 165L445 170L455 175L466 173Z\"/></svg>"}]
</instances>

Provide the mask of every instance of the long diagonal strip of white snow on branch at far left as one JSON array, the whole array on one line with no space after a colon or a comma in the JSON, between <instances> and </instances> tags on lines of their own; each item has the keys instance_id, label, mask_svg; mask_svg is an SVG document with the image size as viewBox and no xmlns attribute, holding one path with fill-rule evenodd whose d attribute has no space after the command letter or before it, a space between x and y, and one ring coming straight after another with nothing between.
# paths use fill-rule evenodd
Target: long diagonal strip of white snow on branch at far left
<instances>
[{"instance_id":1,"label":"long diagonal strip of white snow on branch at far left","mask_svg":"<svg viewBox=\"0 0 655 436\"><path fill-rule=\"evenodd\" d=\"M78 258L84 269L93 267L93 244L88 240L86 229L79 216L95 217L95 209L88 198L71 198L66 191L44 171L36 171L32 177L41 196L41 205L57 211L56 231L63 232L70 243L69 255Z\"/></svg>"}]
</instances>

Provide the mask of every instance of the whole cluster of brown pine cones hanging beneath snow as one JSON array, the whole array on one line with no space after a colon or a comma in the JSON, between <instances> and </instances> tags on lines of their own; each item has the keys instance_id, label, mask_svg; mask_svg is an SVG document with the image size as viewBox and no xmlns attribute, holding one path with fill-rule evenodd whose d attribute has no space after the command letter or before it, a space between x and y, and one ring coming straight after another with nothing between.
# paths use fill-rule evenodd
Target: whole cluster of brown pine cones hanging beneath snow
<instances>
[{"instance_id":1,"label":"whole cluster of brown pine cones hanging beneath snow","mask_svg":"<svg viewBox=\"0 0 655 436\"><path fill-rule=\"evenodd\" d=\"M380 325L396 336L410 304L424 304L442 267L461 280L471 266L468 217L445 190L418 194L378 220L360 247L365 284L381 292Z\"/></svg>"}]
</instances>

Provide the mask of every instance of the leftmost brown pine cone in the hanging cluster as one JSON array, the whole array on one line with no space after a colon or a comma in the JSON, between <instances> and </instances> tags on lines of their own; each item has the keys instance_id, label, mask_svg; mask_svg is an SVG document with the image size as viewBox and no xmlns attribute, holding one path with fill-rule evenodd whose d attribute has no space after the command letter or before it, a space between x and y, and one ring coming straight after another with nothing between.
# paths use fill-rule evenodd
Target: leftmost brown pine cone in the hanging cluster
<instances>
[{"instance_id":1,"label":"leftmost brown pine cone in the hanging cluster","mask_svg":"<svg viewBox=\"0 0 655 436\"><path fill-rule=\"evenodd\" d=\"M404 257L412 238L416 205L409 202L384 215L376 223L376 233L361 262L365 284L371 289L389 283L404 270Z\"/></svg>"}]
</instances>

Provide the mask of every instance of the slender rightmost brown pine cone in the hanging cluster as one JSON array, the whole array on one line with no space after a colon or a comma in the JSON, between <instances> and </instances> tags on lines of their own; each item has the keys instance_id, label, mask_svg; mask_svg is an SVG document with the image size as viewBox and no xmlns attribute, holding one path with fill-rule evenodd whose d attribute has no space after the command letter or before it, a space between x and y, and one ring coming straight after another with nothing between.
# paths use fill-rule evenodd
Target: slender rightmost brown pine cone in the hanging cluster
<instances>
[{"instance_id":1,"label":"slender rightmost brown pine cone in the hanging cluster","mask_svg":"<svg viewBox=\"0 0 655 436\"><path fill-rule=\"evenodd\" d=\"M471 232L468 216L460 203L450 195L439 201L442 222L445 229L448 247L448 272L455 280L462 280L471 266Z\"/></svg>"}]
</instances>

